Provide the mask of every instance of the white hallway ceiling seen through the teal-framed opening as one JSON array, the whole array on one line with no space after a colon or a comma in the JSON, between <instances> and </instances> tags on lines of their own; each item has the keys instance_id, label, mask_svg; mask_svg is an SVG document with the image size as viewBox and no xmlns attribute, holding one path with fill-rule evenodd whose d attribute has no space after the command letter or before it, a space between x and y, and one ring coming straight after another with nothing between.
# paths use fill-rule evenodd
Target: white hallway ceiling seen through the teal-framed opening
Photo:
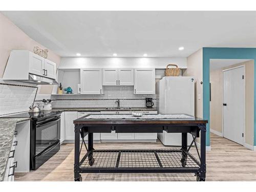
<instances>
[{"instance_id":1,"label":"white hallway ceiling seen through the teal-framed opening","mask_svg":"<svg viewBox=\"0 0 256 192\"><path fill-rule=\"evenodd\" d=\"M210 59L210 71L222 69L251 59Z\"/></svg>"}]
</instances>

